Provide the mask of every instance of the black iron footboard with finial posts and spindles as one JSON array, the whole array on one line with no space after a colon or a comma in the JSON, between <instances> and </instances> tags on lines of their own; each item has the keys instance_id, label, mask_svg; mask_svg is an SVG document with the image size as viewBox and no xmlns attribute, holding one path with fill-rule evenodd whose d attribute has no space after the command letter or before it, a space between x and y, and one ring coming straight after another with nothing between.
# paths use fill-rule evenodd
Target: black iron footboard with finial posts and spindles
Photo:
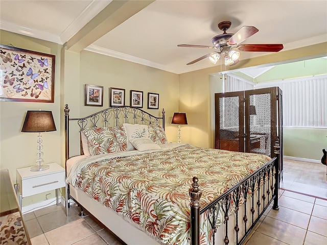
<instances>
[{"instance_id":1,"label":"black iron footboard with finial posts and spindles","mask_svg":"<svg viewBox=\"0 0 327 245\"><path fill-rule=\"evenodd\" d=\"M228 229L229 217L235 212L235 224L233 226L233 234L235 235L236 244L241 244L249 234L255 223L259 220L265 210L273 202L272 209L278 210L278 183L279 183L279 143L276 141L274 145L276 157L267 162L265 165L254 171L247 178L243 179L237 185L231 187L224 192L219 198L200 207L199 200L201 198L201 189L199 188L198 178L193 177L192 187L189 189L191 197L191 242L192 245L200 245L200 215L206 215L212 228L212 244L215 244L215 233L217 231L217 222L219 213L222 214L223 224L225 226L225 234L218 244L229 243ZM255 197L255 193L258 196ZM244 205L241 213L240 207ZM250 212L247 206L250 205ZM250 215L248 215L250 213ZM239 216L242 215L242 218ZM250 217L248 217L250 216ZM243 222L244 232L240 235L239 222Z\"/></svg>"}]
</instances>

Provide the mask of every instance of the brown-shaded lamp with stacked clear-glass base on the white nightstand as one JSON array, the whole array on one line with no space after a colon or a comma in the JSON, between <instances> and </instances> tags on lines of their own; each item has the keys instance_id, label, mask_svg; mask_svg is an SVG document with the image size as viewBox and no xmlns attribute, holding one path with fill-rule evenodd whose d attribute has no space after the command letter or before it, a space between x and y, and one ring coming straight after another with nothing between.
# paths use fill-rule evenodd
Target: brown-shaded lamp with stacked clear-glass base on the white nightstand
<instances>
[{"instance_id":1,"label":"brown-shaded lamp with stacked clear-glass base on the white nightstand","mask_svg":"<svg viewBox=\"0 0 327 245\"><path fill-rule=\"evenodd\" d=\"M42 135L41 132L50 132L56 131L55 121L53 119L53 115L51 111L27 111L24 125L22 126L21 132L29 132L29 133L39 133L38 135L38 145L37 145L37 157L36 160L37 165L31 167L31 171L42 171L45 169L49 169L49 165L42 165L44 160L43 156L43 145L42 143Z\"/></svg>"}]
</instances>

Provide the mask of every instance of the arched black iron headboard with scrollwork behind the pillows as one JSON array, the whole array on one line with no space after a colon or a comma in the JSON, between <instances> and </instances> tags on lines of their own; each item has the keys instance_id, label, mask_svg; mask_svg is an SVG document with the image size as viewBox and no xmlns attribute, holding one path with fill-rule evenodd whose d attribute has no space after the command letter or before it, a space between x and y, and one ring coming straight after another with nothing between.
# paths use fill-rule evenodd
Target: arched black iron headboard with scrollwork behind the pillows
<instances>
[{"instance_id":1,"label":"arched black iron headboard with scrollwork behind the pillows","mask_svg":"<svg viewBox=\"0 0 327 245\"><path fill-rule=\"evenodd\" d=\"M129 124L142 125L160 125L165 129L165 109L162 109L162 117L151 115L150 113L131 106L115 106L109 107L94 114L81 117L69 118L69 108L65 105L65 161L69 159L69 122L77 121L79 133L86 128L96 127L115 127ZM80 138L80 153L83 154L82 141Z\"/></svg>"}]
</instances>

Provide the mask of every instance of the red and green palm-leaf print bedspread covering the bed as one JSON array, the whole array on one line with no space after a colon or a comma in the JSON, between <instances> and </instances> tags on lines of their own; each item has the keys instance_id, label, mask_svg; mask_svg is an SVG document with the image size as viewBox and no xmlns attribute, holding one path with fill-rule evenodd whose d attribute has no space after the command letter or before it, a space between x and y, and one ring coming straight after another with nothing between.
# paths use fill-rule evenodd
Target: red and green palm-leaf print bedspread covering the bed
<instances>
[{"instance_id":1,"label":"red and green palm-leaf print bedspread covering the bed","mask_svg":"<svg viewBox=\"0 0 327 245\"><path fill-rule=\"evenodd\" d=\"M199 179L204 206L271 160L189 144L165 147L82 160L72 167L67 183L129 218L161 243L189 244L192 178ZM211 244L212 229L204 217L200 230L201 244Z\"/></svg>"}]
</instances>

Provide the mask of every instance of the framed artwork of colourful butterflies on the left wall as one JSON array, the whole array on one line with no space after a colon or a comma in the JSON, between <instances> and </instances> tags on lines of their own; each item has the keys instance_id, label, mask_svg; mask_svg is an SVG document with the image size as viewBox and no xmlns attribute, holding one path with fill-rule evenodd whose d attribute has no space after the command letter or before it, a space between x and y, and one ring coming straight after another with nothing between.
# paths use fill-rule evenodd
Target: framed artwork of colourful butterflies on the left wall
<instances>
[{"instance_id":1,"label":"framed artwork of colourful butterflies on the left wall","mask_svg":"<svg viewBox=\"0 0 327 245\"><path fill-rule=\"evenodd\" d=\"M53 103L55 58L0 44L0 101Z\"/></svg>"}]
</instances>

